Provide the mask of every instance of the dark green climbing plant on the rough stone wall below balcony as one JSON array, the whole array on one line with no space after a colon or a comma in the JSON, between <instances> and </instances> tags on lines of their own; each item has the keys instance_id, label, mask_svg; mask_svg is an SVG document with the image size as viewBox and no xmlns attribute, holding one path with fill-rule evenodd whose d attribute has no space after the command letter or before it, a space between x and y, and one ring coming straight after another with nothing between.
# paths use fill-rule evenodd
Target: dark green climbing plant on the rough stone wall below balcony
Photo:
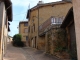
<instances>
[{"instance_id":1,"label":"dark green climbing plant on the rough stone wall below balcony","mask_svg":"<svg viewBox=\"0 0 80 60\"><path fill-rule=\"evenodd\" d=\"M53 44L55 46L54 51L55 52L65 51L67 49L66 31L64 29L57 29L55 31L55 37L56 39L53 41Z\"/></svg>"}]
</instances>

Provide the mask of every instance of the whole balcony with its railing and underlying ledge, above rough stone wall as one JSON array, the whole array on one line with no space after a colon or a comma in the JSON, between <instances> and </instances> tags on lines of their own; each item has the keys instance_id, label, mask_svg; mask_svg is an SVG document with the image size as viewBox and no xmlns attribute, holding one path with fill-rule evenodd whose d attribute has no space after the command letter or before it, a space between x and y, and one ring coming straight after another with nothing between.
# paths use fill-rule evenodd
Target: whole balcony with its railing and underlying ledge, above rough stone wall
<instances>
[{"instance_id":1,"label":"whole balcony with its railing and underlying ledge, above rough stone wall","mask_svg":"<svg viewBox=\"0 0 80 60\"><path fill-rule=\"evenodd\" d=\"M62 17L51 17L39 26L39 36L43 36L47 31L52 28L59 28L62 24Z\"/></svg>"}]
</instances>

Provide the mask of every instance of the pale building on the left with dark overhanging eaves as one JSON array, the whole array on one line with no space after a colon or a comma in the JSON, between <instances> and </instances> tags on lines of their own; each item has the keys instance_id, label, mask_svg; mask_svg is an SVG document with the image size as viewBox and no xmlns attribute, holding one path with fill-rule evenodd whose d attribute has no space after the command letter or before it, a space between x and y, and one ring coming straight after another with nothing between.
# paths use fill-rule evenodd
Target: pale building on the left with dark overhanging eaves
<instances>
[{"instance_id":1,"label":"pale building on the left with dark overhanging eaves","mask_svg":"<svg viewBox=\"0 0 80 60\"><path fill-rule=\"evenodd\" d=\"M10 0L0 0L0 60L6 52L9 21L12 21L12 3Z\"/></svg>"}]
</instances>

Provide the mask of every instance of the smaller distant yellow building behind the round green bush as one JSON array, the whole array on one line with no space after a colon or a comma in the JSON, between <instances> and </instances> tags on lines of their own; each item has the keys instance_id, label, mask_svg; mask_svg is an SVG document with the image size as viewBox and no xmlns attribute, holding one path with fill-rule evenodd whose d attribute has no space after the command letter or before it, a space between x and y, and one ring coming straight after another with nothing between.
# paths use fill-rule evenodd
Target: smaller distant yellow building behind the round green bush
<instances>
[{"instance_id":1,"label":"smaller distant yellow building behind the round green bush","mask_svg":"<svg viewBox=\"0 0 80 60\"><path fill-rule=\"evenodd\" d=\"M28 44L28 21L21 21L19 23L19 34L22 35L22 41Z\"/></svg>"}]
</instances>

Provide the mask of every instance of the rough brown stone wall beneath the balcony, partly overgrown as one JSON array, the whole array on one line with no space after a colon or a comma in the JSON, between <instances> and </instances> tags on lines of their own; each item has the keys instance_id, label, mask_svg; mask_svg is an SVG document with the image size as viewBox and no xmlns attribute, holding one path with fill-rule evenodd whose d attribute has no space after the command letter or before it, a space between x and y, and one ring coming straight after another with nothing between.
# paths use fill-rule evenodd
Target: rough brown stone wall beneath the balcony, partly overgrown
<instances>
[{"instance_id":1,"label":"rough brown stone wall beneath the balcony, partly overgrown","mask_svg":"<svg viewBox=\"0 0 80 60\"><path fill-rule=\"evenodd\" d=\"M59 58L70 58L67 46L66 31L60 28L55 28L46 34L46 53L55 55Z\"/></svg>"}]
</instances>

